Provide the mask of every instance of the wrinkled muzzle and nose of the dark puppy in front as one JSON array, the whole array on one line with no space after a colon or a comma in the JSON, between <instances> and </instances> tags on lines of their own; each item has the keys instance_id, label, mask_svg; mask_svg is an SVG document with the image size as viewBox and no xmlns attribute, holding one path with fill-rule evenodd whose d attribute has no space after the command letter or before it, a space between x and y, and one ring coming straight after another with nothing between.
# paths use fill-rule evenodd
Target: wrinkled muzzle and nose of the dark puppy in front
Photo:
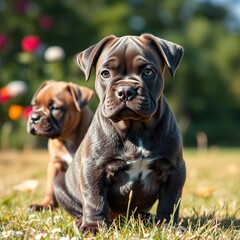
<instances>
[{"instance_id":1,"label":"wrinkled muzzle and nose of the dark puppy in front","mask_svg":"<svg viewBox=\"0 0 240 240\"><path fill-rule=\"evenodd\" d=\"M113 85L106 91L102 111L112 120L146 121L155 113L156 104L142 86Z\"/></svg>"}]
</instances>

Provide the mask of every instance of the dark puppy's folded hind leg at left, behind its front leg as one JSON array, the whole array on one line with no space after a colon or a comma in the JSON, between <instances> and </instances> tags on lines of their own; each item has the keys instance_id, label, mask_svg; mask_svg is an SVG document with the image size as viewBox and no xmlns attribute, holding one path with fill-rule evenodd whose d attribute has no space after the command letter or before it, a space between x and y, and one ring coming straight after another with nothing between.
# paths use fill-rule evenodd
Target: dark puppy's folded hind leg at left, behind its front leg
<instances>
[{"instance_id":1,"label":"dark puppy's folded hind leg at left, behind its front leg","mask_svg":"<svg viewBox=\"0 0 240 240\"><path fill-rule=\"evenodd\" d=\"M78 227L82 224L82 204L71 196L65 184L65 172L59 173L54 179L54 194L58 204L76 219Z\"/></svg>"}]
</instances>

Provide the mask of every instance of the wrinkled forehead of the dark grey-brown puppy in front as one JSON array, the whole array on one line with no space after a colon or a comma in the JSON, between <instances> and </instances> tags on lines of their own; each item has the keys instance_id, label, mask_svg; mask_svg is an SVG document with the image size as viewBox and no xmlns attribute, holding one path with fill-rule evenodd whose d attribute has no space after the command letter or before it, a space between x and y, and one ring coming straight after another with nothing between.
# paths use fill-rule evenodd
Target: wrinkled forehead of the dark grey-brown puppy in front
<instances>
[{"instance_id":1,"label":"wrinkled forehead of the dark grey-brown puppy in front","mask_svg":"<svg viewBox=\"0 0 240 240\"><path fill-rule=\"evenodd\" d=\"M104 48L97 61L97 67L117 68L113 65L133 61L142 61L143 63L151 61L159 65L160 60L157 49L150 46L145 39L124 36Z\"/></svg>"}]
</instances>

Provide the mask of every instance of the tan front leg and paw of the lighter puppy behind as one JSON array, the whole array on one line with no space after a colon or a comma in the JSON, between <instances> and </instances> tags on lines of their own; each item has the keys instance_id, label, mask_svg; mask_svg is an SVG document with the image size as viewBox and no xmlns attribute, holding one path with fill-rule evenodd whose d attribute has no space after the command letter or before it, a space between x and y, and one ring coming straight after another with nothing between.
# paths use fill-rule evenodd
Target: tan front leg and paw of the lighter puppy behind
<instances>
[{"instance_id":1,"label":"tan front leg and paw of the lighter puppy behind","mask_svg":"<svg viewBox=\"0 0 240 240\"><path fill-rule=\"evenodd\" d=\"M57 201L55 199L54 193L53 193L53 182L55 176L60 171L66 171L67 164L59 161L59 160L51 160L48 163L48 171L47 171L47 183L46 183L46 190L45 190L45 196L41 203L39 204L32 204L29 206L29 211L41 211L46 208L54 209L58 206Z\"/></svg>"}]
</instances>

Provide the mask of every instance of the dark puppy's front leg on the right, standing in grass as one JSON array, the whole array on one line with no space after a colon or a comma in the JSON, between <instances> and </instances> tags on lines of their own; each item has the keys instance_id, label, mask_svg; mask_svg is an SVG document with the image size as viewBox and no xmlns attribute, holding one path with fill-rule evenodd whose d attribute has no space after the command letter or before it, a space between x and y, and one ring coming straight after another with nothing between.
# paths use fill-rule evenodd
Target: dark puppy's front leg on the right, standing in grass
<instances>
[{"instance_id":1,"label":"dark puppy's front leg on the right, standing in grass","mask_svg":"<svg viewBox=\"0 0 240 240\"><path fill-rule=\"evenodd\" d=\"M179 206L182 188L186 179L186 166L182 165L171 174L169 181L160 189L156 221L169 222L173 216L173 223L178 223Z\"/></svg>"}]
</instances>

